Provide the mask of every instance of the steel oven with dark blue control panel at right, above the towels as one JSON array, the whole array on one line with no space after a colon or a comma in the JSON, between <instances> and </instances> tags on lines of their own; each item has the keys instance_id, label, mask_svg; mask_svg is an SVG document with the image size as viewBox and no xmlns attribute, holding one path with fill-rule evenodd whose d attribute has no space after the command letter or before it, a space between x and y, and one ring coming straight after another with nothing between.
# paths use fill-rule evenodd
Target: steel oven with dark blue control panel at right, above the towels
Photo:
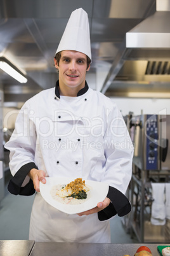
<instances>
[{"instance_id":1,"label":"steel oven with dark blue control panel at right, above the towels","mask_svg":"<svg viewBox=\"0 0 170 256\"><path fill-rule=\"evenodd\" d=\"M170 115L131 115L134 164L141 170L170 170Z\"/></svg>"}]
</instances>

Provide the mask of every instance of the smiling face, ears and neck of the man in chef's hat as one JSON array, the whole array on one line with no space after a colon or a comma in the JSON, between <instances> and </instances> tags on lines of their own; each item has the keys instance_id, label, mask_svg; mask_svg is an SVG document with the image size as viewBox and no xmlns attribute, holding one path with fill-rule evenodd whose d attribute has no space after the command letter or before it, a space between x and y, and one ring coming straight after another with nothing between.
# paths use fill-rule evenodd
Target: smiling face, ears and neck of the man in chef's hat
<instances>
[{"instance_id":1,"label":"smiling face, ears and neck of the man in chef's hat","mask_svg":"<svg viewBox=\"0 0 170 256\"><path fill-rule=\"evenodd\" d=\"M55 67L59 71L60 89L78 92L85 85L87 57L84 53L64 50L61 52L59 64L55 59Z\"/></svg>"}]
</instances>

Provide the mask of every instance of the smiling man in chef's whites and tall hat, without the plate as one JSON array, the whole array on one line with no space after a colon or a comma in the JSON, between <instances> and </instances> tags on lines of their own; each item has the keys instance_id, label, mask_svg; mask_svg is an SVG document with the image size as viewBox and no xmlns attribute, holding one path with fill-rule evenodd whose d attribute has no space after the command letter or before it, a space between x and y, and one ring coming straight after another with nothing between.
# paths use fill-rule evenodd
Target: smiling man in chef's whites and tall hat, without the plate
<instances>
[{"instance_id":1,"label":"smiling man in chef's whites and tall hat, without the plate","mask_svg":"<svg viewBox=\"0 0 170 256\"><path fill-rule=\"evenodd\" d=\"M12 194L36 192L29 239L110 243L109 219L131 211L124 196L131 180L133 145L117 106L86 82L91 64L86 11L72 12L55 55L59 80L23 104L10 150ZM50 206L39 192L46 177L108 183L108 195L95 208L68 215Z\"/></svg>"}]
</instances>

